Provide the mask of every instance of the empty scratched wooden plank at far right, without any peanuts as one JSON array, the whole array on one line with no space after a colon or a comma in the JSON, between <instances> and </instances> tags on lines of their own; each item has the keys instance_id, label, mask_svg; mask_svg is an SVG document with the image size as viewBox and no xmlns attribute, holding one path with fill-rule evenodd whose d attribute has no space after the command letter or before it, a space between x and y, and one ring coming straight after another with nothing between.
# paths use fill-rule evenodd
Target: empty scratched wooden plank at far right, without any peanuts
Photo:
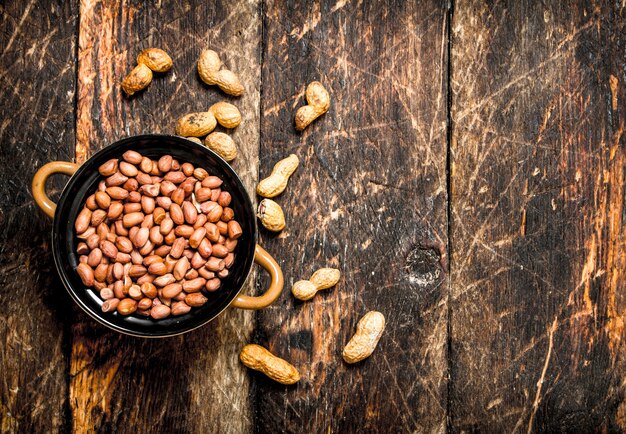
<instances>
[{"instance_id":1,"label":"empty scratched wooden plank at far right, without any peanuts","mask_svg":"<svg viewBox=\"0 0 626 434\"><path fill-rule=\"evenodd\" d=\"M626 429L625 12L455 6L456 431Z\"/></svg>"}]
</instances>

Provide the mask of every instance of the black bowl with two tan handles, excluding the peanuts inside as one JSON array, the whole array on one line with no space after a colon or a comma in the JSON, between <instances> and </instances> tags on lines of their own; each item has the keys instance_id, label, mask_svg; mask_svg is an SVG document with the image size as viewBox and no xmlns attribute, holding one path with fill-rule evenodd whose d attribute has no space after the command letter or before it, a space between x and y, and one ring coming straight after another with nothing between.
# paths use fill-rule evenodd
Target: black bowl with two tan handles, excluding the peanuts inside
<instances>
[{"instance_id":1,"label":"black bowl with two tan handles, excluding the peanuts inside","mask_svg":"<svg viewBox=\"0 0 626 434\"><path fill-rule=\"evenodd\" d=\"M123 316L117 312L104 313L102 299L93 288L86 288L75 271L78 265L78 244L74 221L83 208L87 196L97 190L102 176L98 167L111 158L120 158L124 152L134 150L152 159L170 154L181 162L189 162L206 169L209 174L219 176L223 189L232 196L231 208L241 224L243 235L235 249L235 262L221 288L207 294L209 301L193 308L188 314L154 320L137 315ZM56 204L45 195L44 187L48 176L53 173L71 174L61 198ZM230 165L210 149L191 140L177 136L143 135L120 140L102 149L80 167L73 163L52 162L42 167L33 178L33 197L37 204L54 218L52 229L52 253L56 268L65 288L74 301L98 322L121 333L141 337L166 337L188 332L217 317L229 305L244 309L260 309L271 304L283 286L282 272L260 246L257 246L256 213L241 179ZM270 289L260 297L239 295L255 261L272 275Z\"/></svg>"}]
</instances>

